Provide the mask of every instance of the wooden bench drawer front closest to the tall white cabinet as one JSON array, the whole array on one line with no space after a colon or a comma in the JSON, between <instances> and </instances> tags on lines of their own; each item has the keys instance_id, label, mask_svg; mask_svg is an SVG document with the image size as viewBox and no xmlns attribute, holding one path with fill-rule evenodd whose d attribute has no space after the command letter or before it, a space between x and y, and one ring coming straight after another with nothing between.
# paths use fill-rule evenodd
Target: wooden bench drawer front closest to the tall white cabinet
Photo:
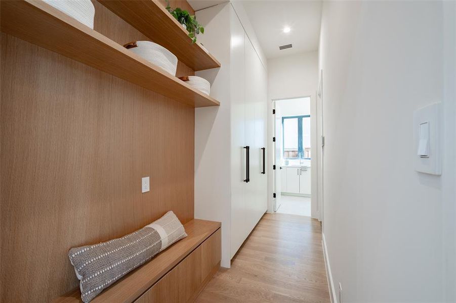
<instances>
[{"instance_id":1,"label":"wooden bench drawer front closest to the tall white cabinet","mask_svg":"<svg viewBox=\"0 0 456 303\"><path fill-rule=\"evenodd\" d=\"M192 302L220 267L221 230L218 229L178 266L179 303Z\"/></svg>"}]
</instances>

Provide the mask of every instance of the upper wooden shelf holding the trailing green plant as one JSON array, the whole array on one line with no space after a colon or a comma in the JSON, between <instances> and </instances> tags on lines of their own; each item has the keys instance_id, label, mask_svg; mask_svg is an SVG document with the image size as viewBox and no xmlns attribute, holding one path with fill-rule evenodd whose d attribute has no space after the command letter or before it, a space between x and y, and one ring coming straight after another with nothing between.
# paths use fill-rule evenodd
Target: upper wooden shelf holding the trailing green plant
<instances>
[{"instance_id":1,"label":"upper wooden shelf holding the trailing green plant","mask_svg":"<svg viewBox=\"0 0 456 303\"><path fill-rule=\"evenodd\" d=\"M201 44L191 43L188 31L157 0L102 0L105 7L153 42L167 48L194 71L220 67Z\"/></svg>"}]
</instances>

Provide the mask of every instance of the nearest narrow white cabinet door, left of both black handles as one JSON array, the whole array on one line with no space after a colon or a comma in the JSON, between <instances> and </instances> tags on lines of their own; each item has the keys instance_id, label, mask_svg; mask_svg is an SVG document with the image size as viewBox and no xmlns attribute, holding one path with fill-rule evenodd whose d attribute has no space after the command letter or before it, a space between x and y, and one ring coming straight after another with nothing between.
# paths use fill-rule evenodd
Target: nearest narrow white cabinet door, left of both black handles
<instances>
[{"instance_id":1,"label":"nearest narrow white cabinet door, left of both black handles","mask_svg":"<svg viewBox=\"0 0 456 303\"><path fill-rule=\"evenodd\" d=\"M231 8L232 9L232 8ZM232 109L232 144L231 144L231 258L245 240L247 229L245 220L246 153L245 144L245 53L244 29L239 19L231 14L231 109Z\"/></svg>"}]
</instances>

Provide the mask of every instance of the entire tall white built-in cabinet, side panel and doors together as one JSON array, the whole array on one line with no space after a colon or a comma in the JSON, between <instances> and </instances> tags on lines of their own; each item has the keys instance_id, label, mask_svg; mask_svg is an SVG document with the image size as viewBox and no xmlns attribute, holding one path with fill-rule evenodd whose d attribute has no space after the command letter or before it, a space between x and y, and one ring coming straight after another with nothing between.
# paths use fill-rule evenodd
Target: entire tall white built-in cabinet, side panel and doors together
<instances>
[{"instance_id":1,"label":"entire tall white built-in cabinet, side panel and doors together","mask_svg":"<svg viewBox=\"0 0 456 303\"><path fill-rule=\"evenodd\" d=\"M267 71L237 13L232 3L196 13L205 28L198 41L222 67L196 73L221 105L195 110L195 218L222 222L223 267L268 203Z\"/></svg>"}]
</instances>

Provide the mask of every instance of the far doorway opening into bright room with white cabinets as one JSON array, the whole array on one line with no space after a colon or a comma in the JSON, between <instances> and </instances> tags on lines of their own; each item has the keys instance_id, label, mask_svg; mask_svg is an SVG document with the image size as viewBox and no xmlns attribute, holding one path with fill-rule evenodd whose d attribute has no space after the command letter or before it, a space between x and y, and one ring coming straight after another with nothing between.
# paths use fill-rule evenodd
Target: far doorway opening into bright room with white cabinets
<instances>
[{"instance_id":1,"label":"far doorway opening into bright room with white cabinets","mask_svg":"<svg viewBox=\"0 0 456 303\"><path fill-rule=\"evenodd\" d=\"M311 97L273 100L274 212L311 217Z\"/></svg>"}]
</instances>

